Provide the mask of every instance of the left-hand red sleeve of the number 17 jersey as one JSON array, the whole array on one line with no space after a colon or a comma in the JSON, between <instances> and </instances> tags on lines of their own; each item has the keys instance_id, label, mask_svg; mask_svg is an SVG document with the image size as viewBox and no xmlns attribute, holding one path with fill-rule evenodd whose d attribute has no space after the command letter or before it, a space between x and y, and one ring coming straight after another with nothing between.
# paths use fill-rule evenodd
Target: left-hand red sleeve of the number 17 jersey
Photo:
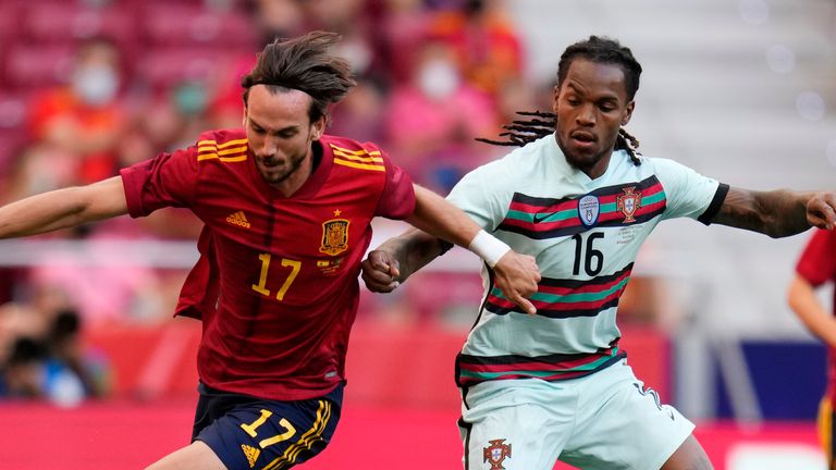
<instances>
[{"instance_id":1,"label":"left-hand red sleeve of the number 17 jersey","mask_svg":"<svg viewBox=\"0 0 836 470\"><path fill-rule=\"evenodd\" d=\"M197 186L195 147L160 153L120 171L125 186L127 212L148 215L163 207L188 207Z\"/></svg>"}]
</instances>

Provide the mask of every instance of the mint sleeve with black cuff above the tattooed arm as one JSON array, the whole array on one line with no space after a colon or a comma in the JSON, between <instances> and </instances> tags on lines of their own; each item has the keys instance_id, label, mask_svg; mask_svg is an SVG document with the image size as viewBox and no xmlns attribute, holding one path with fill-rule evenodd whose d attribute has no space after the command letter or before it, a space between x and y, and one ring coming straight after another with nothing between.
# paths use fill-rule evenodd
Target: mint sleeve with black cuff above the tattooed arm
<instances>
[{"instance_id":1,"label":"mint sleeve with black cuff above the tattooed arm","mask_svg":"<svg viewBox=\"0 0 836 470\"><path fill-rule=\"evenodd\" d=\"M665 190L666 209L664 219L689 218L710 222L706 219L716 210L716 201L722 203L723 191L727 186L716 180L703 176L681 163L668 159L648 159L653 165L656 177Z\"/></svg>"}]
</instances>

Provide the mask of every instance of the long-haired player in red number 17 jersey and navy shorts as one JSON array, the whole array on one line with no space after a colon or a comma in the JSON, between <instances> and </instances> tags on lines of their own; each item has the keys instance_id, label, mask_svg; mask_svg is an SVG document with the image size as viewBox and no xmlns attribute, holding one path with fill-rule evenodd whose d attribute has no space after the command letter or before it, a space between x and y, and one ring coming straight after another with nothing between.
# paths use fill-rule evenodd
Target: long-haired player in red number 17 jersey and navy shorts
<instances>
[{"instance_id":1,"label":"long-haired player in red number 17 jersey and navy shorts","mask_svg":"<svg viewBox=\"0 0 836 470\"><path fill-rule=\"evenodd\" d=\"M3 238L163 207L205 223L176 308L202 320L193 442L151 469L287 469L325 447L374 217L470 248L533 312L533 258L413 185L373 144L324 134L327 107L355 84L328 52L337 40L314 32L266 46L242 81L243 129L207 132L119 176L0 208Z\"/></svg>"}]
</instances>

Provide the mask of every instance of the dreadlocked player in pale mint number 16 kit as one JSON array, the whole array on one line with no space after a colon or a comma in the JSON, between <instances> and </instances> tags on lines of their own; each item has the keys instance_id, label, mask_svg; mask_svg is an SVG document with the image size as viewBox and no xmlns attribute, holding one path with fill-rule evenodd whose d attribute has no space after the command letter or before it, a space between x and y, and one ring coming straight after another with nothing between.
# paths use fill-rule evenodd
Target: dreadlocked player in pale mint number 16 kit
<instances>
[{"instance_id":1,"label":"dreadlocked player in pale mint number 16 kit","mask_svg":"<svg viewBox=\"0 0 836 470\"><path fill-rule=\"evenodd\" d=\"M592 36L561 57L552 113L511 126L503 159L467 174L448 199L482 228L536 257L529 314L489 268L478 319L456 358L465 470L711 469L693 424L626 363L618 299L636 255L665 219L690 218L783 237L832 230L836 194L752 191L635 152L622 126L641 65ZM448 244L420 231L386 240L364 281L390 292Z\"/></svg>"}]
</instances>

